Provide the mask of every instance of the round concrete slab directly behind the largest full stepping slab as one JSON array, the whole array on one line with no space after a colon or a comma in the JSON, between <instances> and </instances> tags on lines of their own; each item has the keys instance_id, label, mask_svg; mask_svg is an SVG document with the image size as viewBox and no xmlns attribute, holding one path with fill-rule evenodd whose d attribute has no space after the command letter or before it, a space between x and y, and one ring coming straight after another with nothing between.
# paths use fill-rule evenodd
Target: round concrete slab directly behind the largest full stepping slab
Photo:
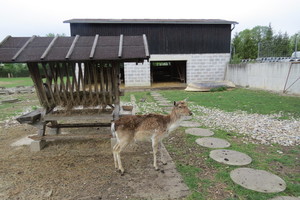
<instances>
[{"instance_id":1,"label":"round concrete slab directly behind the largest full stepping slab","mask_svg":"<svg viewBox=\"0 0 300 200\"><path fill-rule=\"evenodd\" d=\"M227 165L248 165L252 162L252 159L241 152L227 150L227 149L216 149L210 152L209 157L217 162Z\"/></svg>"}]
</instances>

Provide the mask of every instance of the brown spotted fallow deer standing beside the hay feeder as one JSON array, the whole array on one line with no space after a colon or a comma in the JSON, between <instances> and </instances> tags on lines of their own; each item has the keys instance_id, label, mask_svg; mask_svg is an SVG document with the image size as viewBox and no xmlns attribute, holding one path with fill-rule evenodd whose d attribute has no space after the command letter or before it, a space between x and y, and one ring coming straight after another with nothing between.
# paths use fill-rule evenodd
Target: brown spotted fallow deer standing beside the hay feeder
<instances>
[{"instance_id":1,"label":"brown spotted fallow deer standing beside the hay feeder","mask_svg":"<svg viewBox=\"0 0 300 200\"><path fill-rule=\"evenodd\" d=\"M156 162L158 145L162 139L175 130L185 116L192 115L185 101L174 101L174 107L169 115L147 114L124 116L112 123L111 131L117 139L113 147L114 163L117 170L124 174L120 153L133 141L151 140L153 149L153 166L159 170ZM162 152L161 153L161 158ZM163 161L163 164L166 164Z\"/></svg>"}]
</instances>

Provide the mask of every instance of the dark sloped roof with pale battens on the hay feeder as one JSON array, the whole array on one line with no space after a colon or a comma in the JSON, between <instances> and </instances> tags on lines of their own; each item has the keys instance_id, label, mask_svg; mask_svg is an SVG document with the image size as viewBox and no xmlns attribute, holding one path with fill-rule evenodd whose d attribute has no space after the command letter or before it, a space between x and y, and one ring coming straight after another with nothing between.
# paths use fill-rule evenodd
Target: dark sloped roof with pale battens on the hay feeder
<instances>
[{"instance_id":1,"label":"dark sloped roof with pale battens on the hay feeder","mask_svg":"<svg viewBox=\"0 0 300 200\"><path fill-rule=\"evenodd\" d=\"M150 57L146 35L6 37L0 43L0 62L51 61L143 62Z\"/></svg>"}]
</instances>

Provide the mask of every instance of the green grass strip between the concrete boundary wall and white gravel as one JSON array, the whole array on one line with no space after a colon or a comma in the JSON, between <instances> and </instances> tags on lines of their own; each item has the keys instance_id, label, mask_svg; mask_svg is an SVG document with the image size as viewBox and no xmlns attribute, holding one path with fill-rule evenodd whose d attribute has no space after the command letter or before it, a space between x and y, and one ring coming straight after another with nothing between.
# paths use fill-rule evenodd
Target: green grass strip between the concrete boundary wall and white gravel
<instances>
[{"instance_id":1,"label":"green grass strip between the concrete boundary wall and white gravel","mask_svg":"<svg viewBox=\"0 0 300 200\"><path fill-rule=\"evenodd\" d=\"M282 119L300 118L300 97L249 89L234 89L223 92L160 91L170 100L195 102L198 105L232 112L237 110L258 114L282 113Z\"/></svg>"}]
</instances>

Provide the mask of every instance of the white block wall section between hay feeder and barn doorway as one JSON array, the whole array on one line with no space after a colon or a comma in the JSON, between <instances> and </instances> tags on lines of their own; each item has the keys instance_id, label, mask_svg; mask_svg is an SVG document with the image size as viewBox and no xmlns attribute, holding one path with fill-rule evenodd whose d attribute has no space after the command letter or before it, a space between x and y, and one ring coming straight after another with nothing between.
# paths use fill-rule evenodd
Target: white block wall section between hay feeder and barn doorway
<instances>
[{"instance_id":1,"label":"white block wall section between hay feeder and barn doorway","mask_svg":"<svg viewBox=\"0 0 300 200\"><path fill-rule=\"evenodd\" d=\"M151 86L150 62L124 63L126 87Z\"/></svg>"}]
</instances>

